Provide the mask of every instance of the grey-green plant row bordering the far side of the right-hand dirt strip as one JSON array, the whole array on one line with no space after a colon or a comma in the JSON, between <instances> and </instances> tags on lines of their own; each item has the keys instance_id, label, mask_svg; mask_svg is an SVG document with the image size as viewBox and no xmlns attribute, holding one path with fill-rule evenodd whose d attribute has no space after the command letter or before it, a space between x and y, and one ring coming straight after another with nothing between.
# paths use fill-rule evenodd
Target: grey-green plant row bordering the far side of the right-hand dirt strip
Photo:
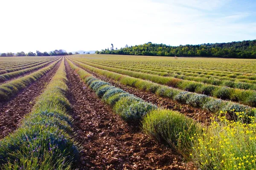
<instances>
[{"instance_id":1,"label":"grey-green plant row bordering the far side of the right-hand dirt strip","mask_svg":"<svg viewBox=\"0 0 256 170\"><path fill-rule=\"evenodd\" d=\"M97 72L107 77L111 77L112 79L116 79L122 84L131 85L141 90L150 91L159 96L168 97L176 100L180 103L186 103L192 105L193 107L203 108L207 111L211 111L213 113L218 111L244 111L249 114L253 114L252 108L244 105L240 105L238 103L233 103L225 100L215 99L202 94L195 94L187 91L181 91L176 88L171 88L164 85L159 85L154 82L150 82L143 79L138 79L130 76L125 76L123 74L118 74L115 72L91 67L90 65L85 65L81 62L77 62L72 60L74 63L78 64L82 68L87 68L90 71Z\"/></svg>"}]
</instances>

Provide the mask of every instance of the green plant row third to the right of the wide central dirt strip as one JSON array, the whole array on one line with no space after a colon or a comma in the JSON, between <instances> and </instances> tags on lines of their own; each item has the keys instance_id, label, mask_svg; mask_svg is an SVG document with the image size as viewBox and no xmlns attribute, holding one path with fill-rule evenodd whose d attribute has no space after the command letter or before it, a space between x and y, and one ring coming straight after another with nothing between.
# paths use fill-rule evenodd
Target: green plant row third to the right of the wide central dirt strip
<instances>
[{"instance_id":1,"label":"green plant row third to the right of the wide central dirt strip","mask_svg":"<svg viewBox=\"0 0 256 170\"><path fill-rule=\"evenodd\" d=\"M93 64L86 61L76 60L77 62L81 62L85 65L92 66L94 68L100 68L107 71L116 72L118 74L128 75L134 78L150 80L152 82L168 85L173 88L178 88L184 91L195 92L198 94L205 94L209 96L213 96L215 98L230 100L233 102L239 102L243 105L248 105L255 107L256 106L256 91L253 90L243 90L239 88L229 88L225 86L218 85L207 85L201 82L182 80L172 77L163 77L154 74L141 73L137 71L129 71L120 68L113 68L99 64Z\"/></svg>"}]
</instances>

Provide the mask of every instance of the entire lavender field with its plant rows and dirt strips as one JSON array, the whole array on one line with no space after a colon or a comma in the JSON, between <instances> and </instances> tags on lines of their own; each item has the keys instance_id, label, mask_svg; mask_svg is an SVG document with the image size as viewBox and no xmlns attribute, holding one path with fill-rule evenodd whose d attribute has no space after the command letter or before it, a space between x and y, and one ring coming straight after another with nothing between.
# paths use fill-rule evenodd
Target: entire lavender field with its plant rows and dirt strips
<instances>
[{"instance_id":1,"label":"entire lavender field with its plant rows and dirt strips","mask_svg":"<svg viewBox=\"0 0 256 170\"><path fill-rule=\"evenodd\" d=\"M0 169L256 169L256 60L0 58Z\"/></svg>"}]
</instances>

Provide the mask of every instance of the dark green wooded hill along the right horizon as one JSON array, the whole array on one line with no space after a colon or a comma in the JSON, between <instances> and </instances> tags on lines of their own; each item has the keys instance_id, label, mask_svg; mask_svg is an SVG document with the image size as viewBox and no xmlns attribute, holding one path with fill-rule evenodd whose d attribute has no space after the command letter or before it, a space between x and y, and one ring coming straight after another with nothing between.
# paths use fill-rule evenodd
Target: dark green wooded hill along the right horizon
<instances>
[{"instance_id":1,"label":"dark green wooded hill along the right horizon","mask_svg":"<svg viewBox=\"0 0 256 170\"><path fill-rule=\"evenodd\" d=\"M153 44L128 46L124 48L96 51L96 54L120 54L143 56L178 56L178 57L226 57L226 58L256 58L256 40L214 43L201 45L170 46L165 44Z\"/></svg>"}]
</instances>

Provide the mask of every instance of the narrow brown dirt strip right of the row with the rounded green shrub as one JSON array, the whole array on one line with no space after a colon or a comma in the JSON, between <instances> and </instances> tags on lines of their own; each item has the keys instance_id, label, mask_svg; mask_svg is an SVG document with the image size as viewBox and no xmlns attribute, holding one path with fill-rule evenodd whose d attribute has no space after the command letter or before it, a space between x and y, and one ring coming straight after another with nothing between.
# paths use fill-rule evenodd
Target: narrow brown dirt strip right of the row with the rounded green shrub
<instances>
[{"instance_id":1,"label":"narrow brown dirt strip right of the row with the rounded green shrub","mask_svg":"<svg viewBox=\"0 0 256 170\"><path fill-rule=\"evenodd\" d=\"M74 63L76 64L76 63ZM76 65L79 67L79 65ZM82 67L80 67L82 68ZM167 109L172 109L174 111L179 111L180 113L183 113L184 115L191 117L192 119L208 124L209 123L209 118L213 116L213 113L210 113L208 111L204 111L200 108L194 108L189 105L181 104L176 102L175 100L171 100L167 97L160 97L157 96L156 94L150 93L148 91L143 91L134 87L131 87L129 85L124 85L119 83L118 81L114 79L110 79L108 77L102 76L100 74L97 74L93 71L90 71L88 69L82 68L88 73L92 74L94 77L101 79L102 81L109 82L111 85L114 85L118 88L121 88L124 91L127 91L130 94L134 94L135 96L140 97L141 99L151 102L159 107L162 108L167 108Z\"/></svg>"}]
</instances>

